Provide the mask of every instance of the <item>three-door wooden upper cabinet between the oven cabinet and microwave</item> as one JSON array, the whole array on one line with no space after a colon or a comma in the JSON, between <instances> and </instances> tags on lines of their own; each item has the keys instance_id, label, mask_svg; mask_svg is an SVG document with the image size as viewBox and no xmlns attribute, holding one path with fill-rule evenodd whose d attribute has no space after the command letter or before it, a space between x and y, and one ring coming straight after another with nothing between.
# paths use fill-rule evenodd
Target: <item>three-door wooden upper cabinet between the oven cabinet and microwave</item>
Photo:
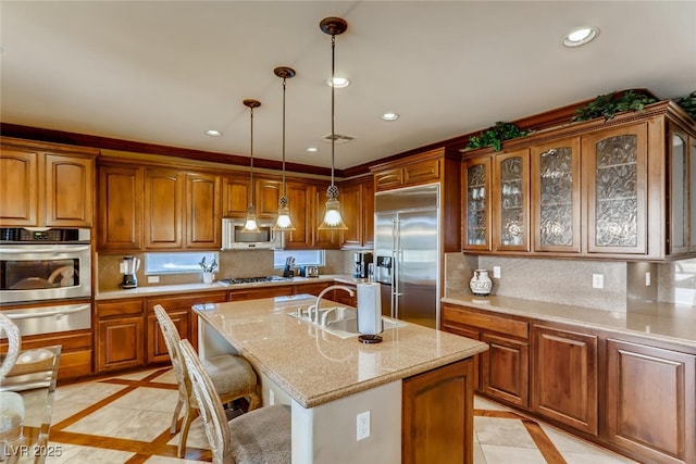
<instances>
[{"instance_id":1,"label":"three-door wooden upper cabinet between the oven cabinet and microwave","mask_svg":"<svg viewBox=\"0 0 696 464\"><path fill-rule=\"evenodd\" d=\"M99 166L98 248L219 249L221 184L215 174L149 166Z\"/></svg>"}]
</instances>

